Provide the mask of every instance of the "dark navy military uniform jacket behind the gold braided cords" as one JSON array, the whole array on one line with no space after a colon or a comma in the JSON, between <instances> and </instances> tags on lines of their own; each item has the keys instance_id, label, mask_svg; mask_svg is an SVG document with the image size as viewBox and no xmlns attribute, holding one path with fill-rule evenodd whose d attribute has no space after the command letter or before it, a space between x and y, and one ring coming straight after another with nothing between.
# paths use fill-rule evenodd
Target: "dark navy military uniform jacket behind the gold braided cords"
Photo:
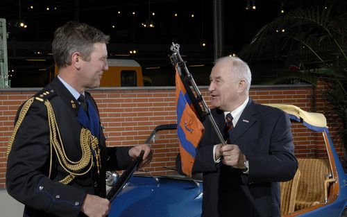
<instances>
[{"instance_id":1,"label":"dark navy military uniform jacket behind the gold braided cords","mask_svg":"<svg viewBox=\"0 0 347 217\"><path fill-rule=\"evenodd\" d=\"M49 94L42 94L44 92ZM67 157L75 162L81 159L82 125L77 121L80 108L78 101L58 78L35 96L50 101ZM92 105L97 110L92 96L86 94L86 98L93 102ZM16 120L18 114L19 112ZM126 168L131 162L129 147L106 148L103 130L100 128L101 173L98 174L94 166L89 173L77 176L65 185L58 181L69 173L58 162L54 148L51 161L49 132L46 106L42 101L34 100L8 156L8 193L26 205L24 216L84 216L80 210L86 193L105 197L105 171ZM49 178L50 162L52 166Z\"/></svg>"}]
</instances>

